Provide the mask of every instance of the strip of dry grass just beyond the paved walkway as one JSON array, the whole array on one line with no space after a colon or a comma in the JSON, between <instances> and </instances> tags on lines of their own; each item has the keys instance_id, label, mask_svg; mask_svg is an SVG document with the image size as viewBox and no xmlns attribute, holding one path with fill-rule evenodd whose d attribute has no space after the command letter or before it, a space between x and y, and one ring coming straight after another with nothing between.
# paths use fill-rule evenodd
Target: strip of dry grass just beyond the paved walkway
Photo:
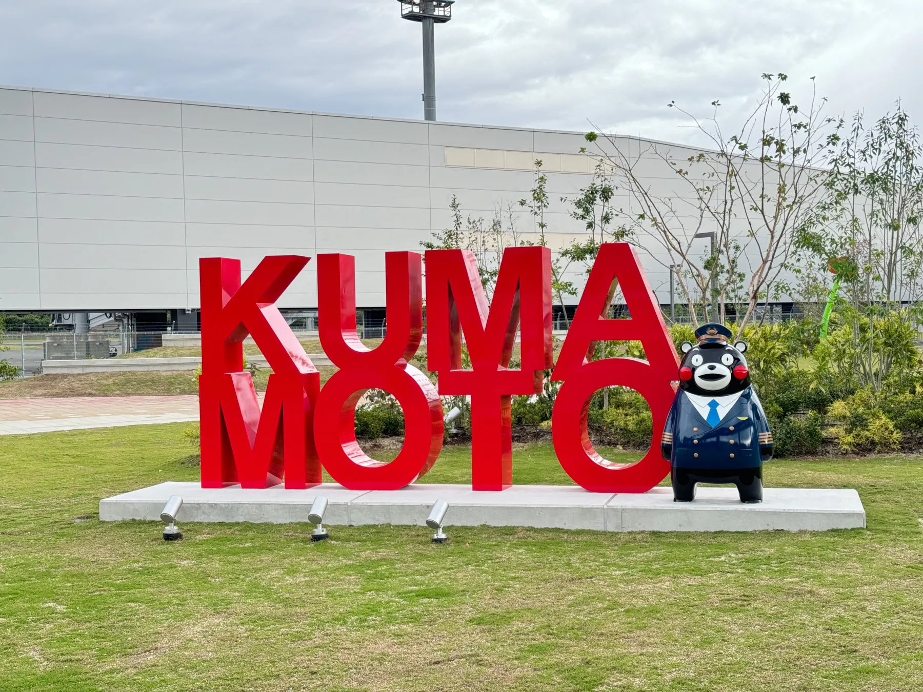
<instances>
[{"instance_id":1,"label":"strip of dry grass just beyond the paved walkway","mask_svg":"<svg viewBox=\"0 0 923 692\"><path fill-rule=\"evenodd\" d=\"M320 366L320 381L326 382L335 367ZM270 371L261 369L254 376L258 391L265 391ZM191 370L85 373L83 375L39 375L0 382L0 400L44 397L126 397L170 394L197 394L198 385Z\"/></svg>"}]
</instances>

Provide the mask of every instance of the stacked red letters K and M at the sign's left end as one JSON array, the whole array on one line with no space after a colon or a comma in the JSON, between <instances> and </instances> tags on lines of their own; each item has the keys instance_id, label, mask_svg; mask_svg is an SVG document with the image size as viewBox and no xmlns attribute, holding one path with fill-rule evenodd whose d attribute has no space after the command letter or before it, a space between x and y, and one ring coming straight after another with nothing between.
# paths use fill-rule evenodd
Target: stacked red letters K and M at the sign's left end
<instances>
[{"instance_id":1,"label":"stacked red letters K and M at the sign's left end","mask_svg":"<svg viewBox=\"0 0 923 692\"><path fill-rule=\"evenodd\" d=\"M240 260L199 260L202 375L198 380L202 487L245 488L320 483L312 415L320 376L275 306L308 262L265 257L240 283ZM243 341L252 334L272 368L263 411Z\"/></svg>"}]
</instances>

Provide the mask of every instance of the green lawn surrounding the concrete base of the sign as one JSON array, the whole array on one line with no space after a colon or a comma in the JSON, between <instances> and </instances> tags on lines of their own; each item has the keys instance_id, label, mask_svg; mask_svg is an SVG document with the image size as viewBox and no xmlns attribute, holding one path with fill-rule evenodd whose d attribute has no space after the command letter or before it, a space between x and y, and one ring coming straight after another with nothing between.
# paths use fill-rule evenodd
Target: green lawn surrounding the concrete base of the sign
<instances>
[{"instance_id":1,"label":"green lawn surrounding the concrete base of the sign","mask_svg":"<svg viewBox=\"0 0 923 692\"><path fill-rule=\"evenodd\" d=\"M102 524L194 480L183 425L0 437L3 690L918 690L923 458L773 461L869 529L791 534ZM427 481L463 482L447 448ZM566 483L547 446L517 483ZM449 516L450 519L450 516Z\"/></svg>"}]
</instances>

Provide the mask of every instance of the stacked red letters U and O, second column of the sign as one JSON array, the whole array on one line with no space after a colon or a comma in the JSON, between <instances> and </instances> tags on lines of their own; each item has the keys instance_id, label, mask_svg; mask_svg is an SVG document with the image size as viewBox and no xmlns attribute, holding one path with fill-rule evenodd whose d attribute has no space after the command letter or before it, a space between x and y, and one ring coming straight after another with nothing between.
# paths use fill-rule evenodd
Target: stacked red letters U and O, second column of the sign
<instances>
[{"instance_id":1,"label":"stacked red letters U and O, second column of the sign","mask_svg":"<svg viewBox=\"0 0 923 692\"><path fill-rule=\"evenodd\" d=\"M423 336L421 257L385 253L388 332L371 351L355 331L355 259L318 256L320 343L340 367L324 385L314 418L320 459L351 490L395 490L433 466L442 448L442 405L426 375L407 362ZM389 391L401 403L404 444L390 463L366 456L355 439L355 407L367 389Z\"/></svg>"}]
</instances>

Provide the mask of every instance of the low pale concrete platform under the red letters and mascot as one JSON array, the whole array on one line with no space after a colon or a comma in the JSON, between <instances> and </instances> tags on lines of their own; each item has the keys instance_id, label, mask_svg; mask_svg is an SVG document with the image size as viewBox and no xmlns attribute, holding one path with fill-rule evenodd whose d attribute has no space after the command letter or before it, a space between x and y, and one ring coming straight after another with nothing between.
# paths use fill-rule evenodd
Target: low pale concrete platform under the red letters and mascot
<instances>
[{"instance_id":1,"label":"low pale concrete platform under the red letters and mascot","mask_svg":"<svg viewBox=\"0 0 923 692\"><path fill-rule=\"evenodd\" d=\"M742 505L733 487L699 488L692 503L673 502L669 488L639 495L588 493L568 485L514 485L502 493L466 485L414 483L402 490L347 490L323 483L307 490L282 486L206 489L160 483L100 501L100 519L159 520L170 495L180 495L182 521L307 521L315 496L329 501L325 524L424 526L438 499L449 503L447 526L528 526L594 531L827 531L865 527L855 490L766 488L760 505Z\"/></svg>"}]
</instances>

